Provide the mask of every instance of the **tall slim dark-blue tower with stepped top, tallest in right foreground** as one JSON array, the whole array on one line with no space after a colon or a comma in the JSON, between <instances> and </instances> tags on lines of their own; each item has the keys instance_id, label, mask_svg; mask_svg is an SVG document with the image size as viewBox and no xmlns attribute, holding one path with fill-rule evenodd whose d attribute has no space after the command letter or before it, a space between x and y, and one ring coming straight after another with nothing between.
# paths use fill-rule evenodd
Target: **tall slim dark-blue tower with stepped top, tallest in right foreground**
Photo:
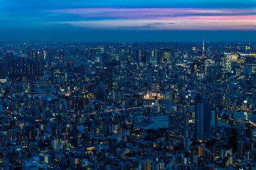
<instances>
[{"instance_id":1,"label":"tall slim dark-blue tower with stepped top, tallest in right foreground","mask_svg":"<svg viewBox=\"0 0 256 170\"><path fill-rule=\"evenodd\" d=\"M208 139L211 136L211 104L205 102L203 97L195 97L195 138Z\"/></svg>"}]
</instances>

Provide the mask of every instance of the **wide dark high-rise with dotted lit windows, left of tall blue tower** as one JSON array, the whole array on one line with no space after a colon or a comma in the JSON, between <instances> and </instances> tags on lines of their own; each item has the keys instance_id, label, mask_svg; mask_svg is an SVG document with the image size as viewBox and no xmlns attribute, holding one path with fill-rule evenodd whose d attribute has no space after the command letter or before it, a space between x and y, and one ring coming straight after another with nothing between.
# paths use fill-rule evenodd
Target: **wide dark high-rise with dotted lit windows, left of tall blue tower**
<instances>
[{"instance_id":1,"label":"wide dark high-rise with dotted lit windows, left of tall blue tower","mask_svg":"<svg viewBox=\"0 0 256 170\"><path fill-rule=\"evenodd\" d=\"M188 115L182 111L169 114L169 139L187 148L190 144Z\"/></svg>"}]
</instances>

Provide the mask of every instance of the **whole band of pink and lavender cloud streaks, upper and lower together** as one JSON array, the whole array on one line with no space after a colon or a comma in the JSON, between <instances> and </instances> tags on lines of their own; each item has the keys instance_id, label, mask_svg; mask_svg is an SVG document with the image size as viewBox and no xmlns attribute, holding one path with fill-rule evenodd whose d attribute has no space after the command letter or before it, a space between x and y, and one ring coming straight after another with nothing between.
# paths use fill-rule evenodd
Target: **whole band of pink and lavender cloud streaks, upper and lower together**
<instances>
[{"instance_id":1,"label":"whole band of pink and lavender cloud streaks, upper and lower together","mask_svg":"<svg viewBox=\"0 0 256 170\"><path fill-rule=\"evenodd\" d=\"M97 29L256 30L256 9L76 8L54 10L82 17L55 22ZM88 18L97 18L97 20ZM49 23L51 24L51 23Z\"/></svg>"}]
</instances>

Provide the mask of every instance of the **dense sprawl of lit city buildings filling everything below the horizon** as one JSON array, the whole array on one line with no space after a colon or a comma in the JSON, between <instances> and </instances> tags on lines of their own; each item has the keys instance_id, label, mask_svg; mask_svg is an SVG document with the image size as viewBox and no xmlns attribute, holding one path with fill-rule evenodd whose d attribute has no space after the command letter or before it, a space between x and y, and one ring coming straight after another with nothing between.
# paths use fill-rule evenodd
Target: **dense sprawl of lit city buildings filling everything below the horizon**
<instances>
[{"instance_id":1,"label":"dense sprawl of lit city buildings filling everything below the horizon","mask_svg":"<svg viewBox=\"0 0 256 170\"><path fill-rule=\"evenodd\" d=\"M256 169L256 44L0 53L0 169Z\"/></svg>"}]
</instances>

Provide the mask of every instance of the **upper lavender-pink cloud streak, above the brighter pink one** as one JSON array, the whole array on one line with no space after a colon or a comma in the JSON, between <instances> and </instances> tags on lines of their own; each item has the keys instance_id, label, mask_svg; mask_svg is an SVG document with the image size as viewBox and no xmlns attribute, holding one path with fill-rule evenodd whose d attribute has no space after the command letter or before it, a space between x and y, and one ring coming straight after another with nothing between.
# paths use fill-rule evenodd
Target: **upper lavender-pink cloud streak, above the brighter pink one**
<instances>
[{"instance_id":1,"label":"upper lavender-pink cloud streak, above the brighter pink one","mask_svg":"<svg viewBox=\"0 0 256 170\"><path fill-rule=\"evenodd\" d=\"M180 15L248 15L256 9L201 9L201 8L71 8L54 10L82 17L155 18Z\"/></svg>"}]
</instances>

